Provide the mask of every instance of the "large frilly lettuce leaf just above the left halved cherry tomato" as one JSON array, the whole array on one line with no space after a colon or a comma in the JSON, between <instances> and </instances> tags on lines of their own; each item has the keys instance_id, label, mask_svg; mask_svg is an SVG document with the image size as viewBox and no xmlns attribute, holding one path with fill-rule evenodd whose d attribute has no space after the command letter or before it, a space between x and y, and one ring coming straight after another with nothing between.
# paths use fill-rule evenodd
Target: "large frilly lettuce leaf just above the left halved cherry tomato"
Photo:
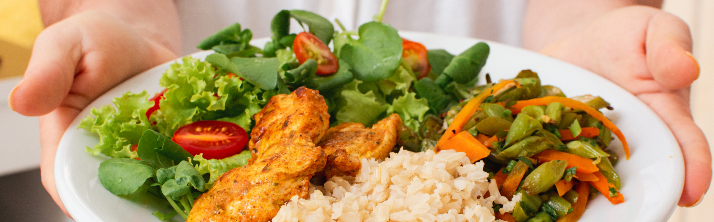
<instances>
[{"instance_id":1,"label":"large frilly lettuce leaf just above the left halved cherry tomato","mask_svg":"<svg viewBox=\"0 0 714 222\"><path fill-rule=\"evenodd\" d=\"M168 89L154 115L156 130L173 136L181 126L194 121L231 121L250 131L251 116L260 111L276 91L264 91L241 78L211 66L207 61L183 57L161 77Z\"/></svg>"}]
</instances>

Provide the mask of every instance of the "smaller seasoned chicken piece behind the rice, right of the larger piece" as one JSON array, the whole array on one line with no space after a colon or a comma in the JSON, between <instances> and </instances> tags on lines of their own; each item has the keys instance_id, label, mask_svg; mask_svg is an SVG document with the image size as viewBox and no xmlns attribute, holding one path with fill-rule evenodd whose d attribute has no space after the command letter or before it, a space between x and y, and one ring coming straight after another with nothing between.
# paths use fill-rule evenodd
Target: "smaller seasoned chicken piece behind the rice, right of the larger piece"
<instances>
[{"instance_id":1,"label":"smaller seasoned chicken piece behind the rice, right of the larger piece","mask_svg":"<svg viewBox=\"0 0 714 222\"><path fill-rule=\"evenodd\" d=\"M372 128L364 128L362 123L342 123L328 129L318 144L328 154L325 177L356 176L362 158L386 158L399 140L401 127L401 118L394 113Z\"/></svg>"}]
</instances>

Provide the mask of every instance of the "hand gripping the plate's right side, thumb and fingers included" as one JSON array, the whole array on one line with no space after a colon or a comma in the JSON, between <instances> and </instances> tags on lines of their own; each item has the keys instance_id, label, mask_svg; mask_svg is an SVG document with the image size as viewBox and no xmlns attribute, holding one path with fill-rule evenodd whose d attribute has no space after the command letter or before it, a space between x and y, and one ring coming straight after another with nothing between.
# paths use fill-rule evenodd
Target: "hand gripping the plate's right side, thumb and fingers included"
<instances>
[{"instance_id":1,"label":"hand gripping the plate's right side, thumb and fingers included","mask_svg":"<svg viewBox=\"0 0 714 222\"><path fill-rule=\"evenodd\" d=\"M531 30L532 31L532 30ZM709 146L695 125L689 89L699 76L687 24L648 6L615 9L582 24L540 52L600 74L645 102L682 148L684 191L679 206L694 206L711 181Z\"/></svg>"}]
</instances>

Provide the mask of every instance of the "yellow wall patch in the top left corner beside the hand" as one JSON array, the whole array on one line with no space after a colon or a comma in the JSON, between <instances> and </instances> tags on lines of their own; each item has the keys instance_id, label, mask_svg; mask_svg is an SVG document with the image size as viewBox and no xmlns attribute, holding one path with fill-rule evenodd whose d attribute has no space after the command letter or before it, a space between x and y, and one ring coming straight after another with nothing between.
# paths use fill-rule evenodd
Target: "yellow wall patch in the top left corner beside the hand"
<instances>
[{"instance_id":1,"label":"yellow wall patch in the top left corner beside the hand","mask_svg":"<svg viewBox=\"0 0 714 222\"><path fill-rule=\"evenodd\" d=\"M0 79L24 74L43 28L37 1L0 1Z\"/></svg>"}]
</instances>

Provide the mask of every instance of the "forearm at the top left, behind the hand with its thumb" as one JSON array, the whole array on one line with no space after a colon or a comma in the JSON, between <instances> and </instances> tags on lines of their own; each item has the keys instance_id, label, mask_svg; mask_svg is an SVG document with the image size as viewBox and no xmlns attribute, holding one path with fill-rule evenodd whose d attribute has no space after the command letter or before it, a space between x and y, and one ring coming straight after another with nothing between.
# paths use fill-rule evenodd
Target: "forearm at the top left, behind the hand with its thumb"
<instances>
[{"instance_id":1,"label":"forearm at the top left, behind the hand with its thumb","mask_svg":"<svg viewBox=\"0 0 714 222\"><path fill-rule=\"evenodd\" d=\"M50 26L84 11L101 11L124 21L152 44L181 51L181 29L172 0L39 0L42 21Z\"/></svg>"}]
</instances>

